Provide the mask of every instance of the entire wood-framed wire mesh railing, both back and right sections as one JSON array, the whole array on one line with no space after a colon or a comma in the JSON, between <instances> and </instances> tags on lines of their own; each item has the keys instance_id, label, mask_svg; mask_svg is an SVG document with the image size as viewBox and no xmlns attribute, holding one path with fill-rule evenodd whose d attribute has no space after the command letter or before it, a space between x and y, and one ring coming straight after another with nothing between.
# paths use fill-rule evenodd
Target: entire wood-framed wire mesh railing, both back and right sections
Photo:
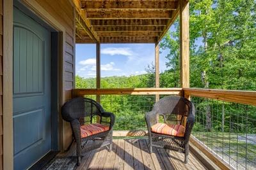
<instances>
[{"instance_id":1,"label":"entire wood-framed wire mesh railing, both back and right sections","mask_svg":"<svg viewBox=\"0 0 256 170\"><path fill-rule=\"evenodd\" d=\"M145 113L152 110L156 99L170 95L190 97L195 104L191 143L196 143L207 157L213 155L211 159L218 160L214 162L219 167L256 168L256 92L181 88L72 90L73 97L95 99L106 111L115 113L115 132L145 131Z\"/></svg>"}]
</instances>

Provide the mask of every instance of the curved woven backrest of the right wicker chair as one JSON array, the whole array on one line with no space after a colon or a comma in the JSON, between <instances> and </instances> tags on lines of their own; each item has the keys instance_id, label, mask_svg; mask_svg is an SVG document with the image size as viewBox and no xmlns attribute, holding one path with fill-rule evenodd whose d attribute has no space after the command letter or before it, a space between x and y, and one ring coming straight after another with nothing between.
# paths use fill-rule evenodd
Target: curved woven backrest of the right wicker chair
<instances>
[{"instance_id":1,"label":"curved woven backrest of the right wicker chair","mask_svg":"<svg viewBox=\"0 0 256 170\"><path fill-rule=\"evenodd\" d=\"M188 117L191 107L191 102L180 96L163 97L154 104L154 110L159 114L163 114L166 122L170 124L182 124L184 117Z\"/></svg>"}]
</instances>

